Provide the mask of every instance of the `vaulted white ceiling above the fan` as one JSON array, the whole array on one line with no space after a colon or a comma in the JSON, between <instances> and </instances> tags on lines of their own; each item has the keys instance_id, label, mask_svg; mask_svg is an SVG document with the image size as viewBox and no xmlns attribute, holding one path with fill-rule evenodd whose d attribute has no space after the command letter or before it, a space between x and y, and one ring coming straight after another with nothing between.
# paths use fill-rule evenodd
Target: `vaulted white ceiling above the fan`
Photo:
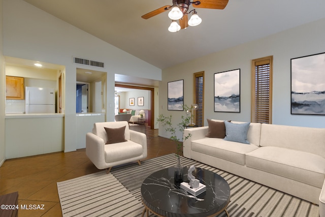
<instances>
[{"instance_id":1,"label":"vaulted white ceiling above the fan","mask_svg":"<svg viewBox=\"0 0 325 217\"><path fill-rule=\"evenodd\" d=\"M197 9L199 26L170 33L168 12L141 16L172 0L24 1L160 69L325 17L324 0L229 0L224 10Z\"/></svg>"}]
</instances>

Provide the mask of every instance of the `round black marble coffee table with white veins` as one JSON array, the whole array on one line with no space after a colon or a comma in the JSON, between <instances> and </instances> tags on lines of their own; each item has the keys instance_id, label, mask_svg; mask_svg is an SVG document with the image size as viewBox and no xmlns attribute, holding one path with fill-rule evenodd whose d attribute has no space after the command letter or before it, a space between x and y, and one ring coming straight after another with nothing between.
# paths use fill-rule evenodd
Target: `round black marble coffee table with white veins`
<instances>
[{"instance_id":1,"label":"round black marble coffee table with white veins","mask_svg":"<svg viewBox=\"0 0 325 217\"><path fill-rule=\"evenodd\" d=\"M145 206L142 216L149 211L158 216L215 216L223 211L230 201L229 184L220 175L196 168L192 173L206 185L206 192L193 196L176 187L174 168L166 168L149 175L141 185L141 198ZM184 168L184 181L187 167Z\"/></svg>"}]
</instances>

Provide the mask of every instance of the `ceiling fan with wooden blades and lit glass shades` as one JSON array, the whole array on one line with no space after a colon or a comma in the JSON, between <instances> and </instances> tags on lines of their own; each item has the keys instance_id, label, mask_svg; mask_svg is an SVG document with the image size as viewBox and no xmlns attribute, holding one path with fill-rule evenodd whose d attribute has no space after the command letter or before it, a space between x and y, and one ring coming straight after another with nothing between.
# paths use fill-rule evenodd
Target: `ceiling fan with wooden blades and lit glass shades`
<instances>
[{"instance_id":1,"label":"ceiling fan with wooden blades and lit glass shades","mask_svg":"<svg viewBox=\"0 0 325 217\"><path fill-rule=\"evenodd\" d=\"M173 5L166 5L164 7L158 8L151 11L143 16L143 19L149 19L160 13L172 9L168 16L172 19L172 24L169 27L170 32L178 32L180 29L187 28L188 25L195 26L199 25L202 19L197 15L195 9L188 11L190 5L194 8L206 8L206 9L224 9L228 4L229 0L200 0L195 2L190 2L190 0L173 0ZM192 12L191 18L188 20L187 15ZM179 20L179 25L176 22Z\"/></svg>"}]
</instances>

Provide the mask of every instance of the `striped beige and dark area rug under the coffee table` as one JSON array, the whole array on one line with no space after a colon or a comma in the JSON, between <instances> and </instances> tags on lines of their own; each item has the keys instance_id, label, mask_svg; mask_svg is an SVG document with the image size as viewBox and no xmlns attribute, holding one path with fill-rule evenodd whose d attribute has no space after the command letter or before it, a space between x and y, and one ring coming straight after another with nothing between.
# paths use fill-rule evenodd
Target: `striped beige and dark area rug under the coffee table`
<instances>
[{"instance_id":1,"label":"striped beige and dark area rug under the coffee table","mask_svg":"<svg viewBox=\"0 0 325 217\"><path fill-rule=\"evenodd\" d=\"M63 216L141 216L142 181L151 173L175 164L175 155L169 154L143 161L141 166L134 163L114 167L110 174L102 171L57 182ZM318 205L190 159L182 158L182 164L213 171L229 183L231 199L227 210L230 216L319 216Z\"/></svg>"}]
</instances>

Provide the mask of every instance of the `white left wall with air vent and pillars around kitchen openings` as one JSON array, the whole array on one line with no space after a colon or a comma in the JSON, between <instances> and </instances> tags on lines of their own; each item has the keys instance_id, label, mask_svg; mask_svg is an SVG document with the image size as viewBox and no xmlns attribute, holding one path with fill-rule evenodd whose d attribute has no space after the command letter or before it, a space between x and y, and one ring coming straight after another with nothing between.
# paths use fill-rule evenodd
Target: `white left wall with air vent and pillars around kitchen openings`
<instances>
[{"instance_id":1,"label":"white left wall with air vent and pillars around kitchen openings","mask_svg":"<svg viewBox=\"0 0 325 217\"><path fill-rule=\"evenodd\" d=\"M161 80L161 70L22 0L4 0L3 54L66 67L65 151L76 149L76 68L72 56L103 61L107 72L106 117L114 120L115 74ZM85 43L87 42L87 43ZM3 63L3 61L1 61ZM93 70L93 67L83 67ZM1 83L5 76L2 72ZM1 85L2 87L4 85ZM3 94L2 94L3 95ZM2 102L4 97L2 96ZM3 104L1 104L3 105ZM0 110L4 122L5 110ZM0 127L4 134L4 127ZM1 137L2 138L2 137ZM1 143L3 144L3 143ZM0 154L1 155L1 154Z\"/></svg>"}]
</instances>

